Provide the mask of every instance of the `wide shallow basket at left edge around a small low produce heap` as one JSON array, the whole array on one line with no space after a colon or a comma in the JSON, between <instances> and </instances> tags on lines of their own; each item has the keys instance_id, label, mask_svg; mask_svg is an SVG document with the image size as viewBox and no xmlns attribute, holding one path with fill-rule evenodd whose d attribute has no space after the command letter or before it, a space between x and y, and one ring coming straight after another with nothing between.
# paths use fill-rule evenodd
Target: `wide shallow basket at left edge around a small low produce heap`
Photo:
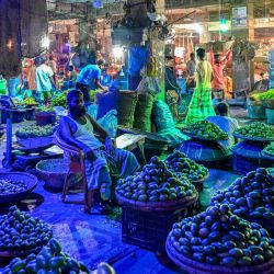
<instances>
[{"instance_id":1,"label":"wide shallow basket at left edge around a small low produce heap","mask_svg":"<svg viewBox=\"0 0 274 274\"><path fill-rule=\"evenodd\" d=\"M0 180L23 181L26 190L14 194L0 194L0 205L15 204L25 198L36 186L38 180L35 175L23 172L5 172L0 173Z\"/></svg>"}]
</instances>

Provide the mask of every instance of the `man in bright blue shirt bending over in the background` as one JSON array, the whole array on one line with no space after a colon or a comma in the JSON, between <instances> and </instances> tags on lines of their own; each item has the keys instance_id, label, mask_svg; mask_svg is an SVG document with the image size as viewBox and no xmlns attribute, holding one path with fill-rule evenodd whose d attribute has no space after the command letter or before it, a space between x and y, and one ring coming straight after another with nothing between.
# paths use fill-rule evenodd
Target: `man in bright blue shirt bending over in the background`
<instances>
[{"instance_id":1,"label":"man in bright blue shirt bending over in the background","mask_svg":"<svg viewBox=\"0 0 274 274\"><path fill-rule=\"evenodd\" d=\"M81 69L76 80L76 88L83 93L84 102L90 102L90 90L106 88L100 83L101 70L104 69L104 60L99 60L96 65L88 65Z\"/></svg>"}]
</instances>

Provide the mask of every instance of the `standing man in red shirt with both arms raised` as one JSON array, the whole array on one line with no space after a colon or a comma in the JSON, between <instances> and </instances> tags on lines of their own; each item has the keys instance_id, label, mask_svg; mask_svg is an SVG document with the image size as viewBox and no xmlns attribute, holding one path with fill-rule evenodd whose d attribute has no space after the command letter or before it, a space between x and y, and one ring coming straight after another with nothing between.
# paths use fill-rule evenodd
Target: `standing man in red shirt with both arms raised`
<instances>
[{"instance_id":1,"label":"standing man in red shirt with both arms raised","mask_svg":"<svg viewBox=\"0 0 274 274\"><path fill-rule=\"evenodd\" d=\"M221 102L225 99L225 77L224 69L227 62L232 57L231 48L228 50L225 57L221 58L220 53L209 52L209 62L213 66L213 81L212 89L214 98L217 102Z\"/></svg>"}]
</instances>

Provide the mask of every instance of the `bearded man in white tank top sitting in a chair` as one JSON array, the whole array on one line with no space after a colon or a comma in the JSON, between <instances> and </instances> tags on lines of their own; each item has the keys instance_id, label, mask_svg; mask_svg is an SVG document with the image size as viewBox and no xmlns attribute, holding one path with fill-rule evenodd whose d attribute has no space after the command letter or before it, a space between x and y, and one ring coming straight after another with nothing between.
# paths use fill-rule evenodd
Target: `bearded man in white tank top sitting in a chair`
<instances>
[{"instance_id":1,"label":"bearded man in white tank top sitting in a chair","mask_svg":"<svg viewBox=\"0 0 274 274\"><path fill-rule=\"evenodd\" d=\"M92 190L100 190L102 201L110 201L112 194L110 170L113 171L112 174L126 178L139 168L138 161L132 152L113 147L109 134L87 114L80 90L71 90L67 94L67 102L69 114L61 118L59 130L65 141L82 149L85 153L89 206L91 206ZM94 136L95 133L99 138ZM104 208L101 209L105 209L107 203L103 205Z\"/></svg>"}]
</instances>

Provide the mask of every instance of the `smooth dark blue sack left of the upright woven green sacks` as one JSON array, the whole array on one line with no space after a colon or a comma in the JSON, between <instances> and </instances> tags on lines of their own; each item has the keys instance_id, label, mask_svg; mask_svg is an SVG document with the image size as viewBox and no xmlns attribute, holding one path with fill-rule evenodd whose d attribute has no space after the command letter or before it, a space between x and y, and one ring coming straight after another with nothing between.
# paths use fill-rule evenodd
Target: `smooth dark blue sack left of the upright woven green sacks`
<instances>
[{"instance_id":1,"label":"smooth dark blue sack left of the upright woven green sacks","mask_svg":"<svg viewBox=\"0 0 274 274\"><path fill-rule=\"evenodd\" d=\"M105 93L98 92L95 94L95 103L98 104L98 118L103 117L111 110L117 110L118 106L117 88L111 87Z\"/></svg>"}]
</instances>

